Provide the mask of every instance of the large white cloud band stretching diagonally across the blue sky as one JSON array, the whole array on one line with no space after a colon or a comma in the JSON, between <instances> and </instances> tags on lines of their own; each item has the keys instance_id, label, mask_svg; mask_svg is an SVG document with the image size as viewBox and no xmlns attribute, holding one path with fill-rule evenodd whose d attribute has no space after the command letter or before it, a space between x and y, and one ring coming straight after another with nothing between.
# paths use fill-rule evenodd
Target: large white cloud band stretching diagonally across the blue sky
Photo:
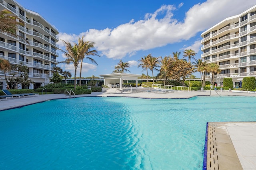
<instances>
[{"instance_id":1,"label":"large white cloud band stretching diagonally across the blue sky","mask_svg":"<svg viewBox=\"0 0 256 170\"><path fill-rule=\"evenodd\" d=\"M163 5L154 13L146 14L144 20L131 19L130 22L114 29L90 29L79 36L65 33L58 36L60 40L76 41L78 37L84 35L86 40L95 42L100 55L122 59L126 55L136 54L136 51L189 40L198 32L214 26L227 17L240 14L255 4L255 0L247 0L246 3L242 3L241 0L208 0L190 8L182 22L173 18L173 11L178 10L175 6ZM178 8L182 5L183 3L179 4ZM164 14L164 17L158 18L158 14ZM63 47L61 41L58 44ZM198 41L195 42L194 47L198 48L198 44Z\"/></svg>"}]
</instances>

